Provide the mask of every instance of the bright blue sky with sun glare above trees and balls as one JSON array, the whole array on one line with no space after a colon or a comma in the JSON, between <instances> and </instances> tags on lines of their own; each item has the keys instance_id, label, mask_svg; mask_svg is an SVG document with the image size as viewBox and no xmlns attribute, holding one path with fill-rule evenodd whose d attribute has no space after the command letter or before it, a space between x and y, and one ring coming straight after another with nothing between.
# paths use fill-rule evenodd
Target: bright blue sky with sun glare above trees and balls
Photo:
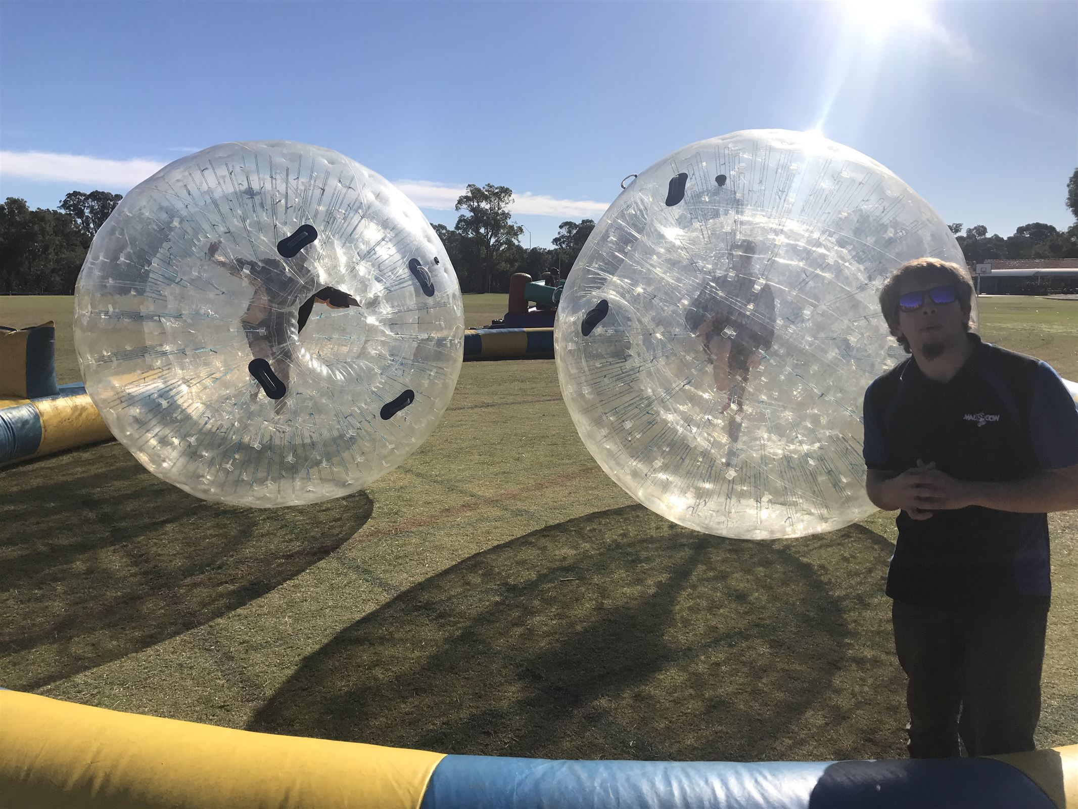
<instances>
[{"instance_id":1,"label":"bright blue sky with sun glare above trees and balls","mask_svg":"<svg viewBox=\"0 0 1078 809\"><path fill-rule=\"evenodd\" d=\"M284 138L450 225L456 190L509 186L522 243L548 245L689 142L818 127L946 221L1064 228L1076 38L1073 2L5 0L0 196L54 207L189 150Z\"/></svg>"}]
</instances>

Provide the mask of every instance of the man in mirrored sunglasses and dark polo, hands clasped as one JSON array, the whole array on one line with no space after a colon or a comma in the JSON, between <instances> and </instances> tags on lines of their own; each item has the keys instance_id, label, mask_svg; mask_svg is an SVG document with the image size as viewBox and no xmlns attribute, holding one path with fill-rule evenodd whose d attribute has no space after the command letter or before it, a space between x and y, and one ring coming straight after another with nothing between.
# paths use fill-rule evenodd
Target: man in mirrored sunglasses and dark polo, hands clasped
<instances>
[{"instance_id":1,"label":"man in mirrored sunglasses and dark polo, hands clasped","mask_svg":"<svg viewBox=\"0 0 1078 809\"><path fill-rule=\"evenodd\" d=\"M865 393L866 489L901 509L887 595L914 758L1033 750L1050 595L1048 511L1078 508L1078 411L1037 359L969 331L973 287L937 259L880 292L913 356ZM960 717L960 718L959 718Z\"/></svg>"}]
</instances>

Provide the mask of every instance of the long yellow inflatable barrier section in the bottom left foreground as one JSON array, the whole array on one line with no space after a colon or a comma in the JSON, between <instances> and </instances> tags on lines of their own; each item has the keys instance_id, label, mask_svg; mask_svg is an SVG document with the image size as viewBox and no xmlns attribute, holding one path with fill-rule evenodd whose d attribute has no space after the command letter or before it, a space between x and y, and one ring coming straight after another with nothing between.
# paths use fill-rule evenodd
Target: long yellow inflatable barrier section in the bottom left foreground
<instances>
[{"instance_id":1,"label":"long yellow inflatable barrier section in the bottom left foreground","mask_svg":"<svg viewBox=\"0 0 1078 809\"><path fill-rule=\"evenodd\" d=\"M0 691L10 809L416 809L442 758Z\"/></svg>"}]
</instances>

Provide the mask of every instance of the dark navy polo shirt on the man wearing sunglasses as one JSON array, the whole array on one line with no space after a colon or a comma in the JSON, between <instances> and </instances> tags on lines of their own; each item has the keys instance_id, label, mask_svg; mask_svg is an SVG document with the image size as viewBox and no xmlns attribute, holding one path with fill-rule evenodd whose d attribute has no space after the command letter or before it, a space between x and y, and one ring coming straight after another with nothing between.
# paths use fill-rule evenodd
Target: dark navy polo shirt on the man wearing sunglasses
<instances>
[{"instance_id":1,"label":"dark navy polo shirt on the man wearing sunglasses","mask_svg":"<svg viewBox=\"0 0 1078 809\"><path fill-rule=\"evenodd\" d=\"M865 392L865 463L917 460L972 481L1013 481L1078 464L1078 409L1051 366L982 343L950 382L909 357ZM944 609L1048 604L1048 516L980 506L913 520L901 511L887 594Z\"/></svg>"}]
</instances>

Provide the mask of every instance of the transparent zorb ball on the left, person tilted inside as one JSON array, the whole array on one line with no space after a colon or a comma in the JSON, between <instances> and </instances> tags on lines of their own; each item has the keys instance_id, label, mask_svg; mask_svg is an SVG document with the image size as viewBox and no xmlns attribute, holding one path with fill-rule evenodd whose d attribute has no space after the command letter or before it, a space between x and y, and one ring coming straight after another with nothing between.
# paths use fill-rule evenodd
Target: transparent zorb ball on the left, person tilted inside
<instances>
[{"instance_id":1,"label":"transparent zorb ball on the left, person tilted inside","mask_svg":"<svg viewBox=\"0 0 1078 809\"><path fill-rule=\"evenodd\" d=\"M222 143L128 193L75 289L86 390L154 475L198 497L338 497L430 435L464 310L426 217L330 149Z\"/></svg>"}]
</instances>

